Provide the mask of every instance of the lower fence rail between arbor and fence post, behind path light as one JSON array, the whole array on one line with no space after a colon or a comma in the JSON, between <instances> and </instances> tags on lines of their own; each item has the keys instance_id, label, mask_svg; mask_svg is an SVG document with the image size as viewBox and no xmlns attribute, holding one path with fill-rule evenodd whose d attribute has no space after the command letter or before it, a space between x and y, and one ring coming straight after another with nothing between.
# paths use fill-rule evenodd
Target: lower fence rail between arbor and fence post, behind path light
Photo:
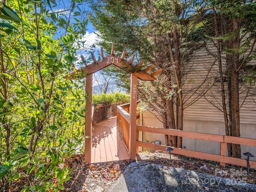
<instances>
[{"instance_id":1,"label":"lower fence rail between arbor and fence post, behind path light","mask_svg":"<svg viewBox=\"0 0 256 192\"><path fill-rule=\"evenodd\" d=\"M146 143L146 142L142 142L142 141L136 141L136 145L145 147L145 148L151 148L154 150L161 150L161 151L166 151L166 148L168 147L168 146L164 146L164 145L151 144L151 143ZM217 162L220 162L220 161L224 162L224 157L221 155L186 150L186 149L181 149L181 148L174 148L174 147L172 147L172 148L173 148L172 153L174 153L174 154L196 157L196 158L200 158L200 159L206 159L206 160L217 161Z\"/></svg>"}]
</instances>

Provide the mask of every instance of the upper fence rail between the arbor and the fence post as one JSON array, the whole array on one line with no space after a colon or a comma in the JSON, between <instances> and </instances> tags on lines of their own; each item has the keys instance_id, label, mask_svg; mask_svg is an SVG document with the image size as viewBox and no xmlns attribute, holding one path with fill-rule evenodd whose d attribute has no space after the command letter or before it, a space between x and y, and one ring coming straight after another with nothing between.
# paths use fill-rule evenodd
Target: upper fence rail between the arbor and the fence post
<instances>
[{"instance_id":1,"label":"upper fence rail between the arbor and the fence post","mask_svg":"<svg viewBox=\"0 0 256 192\"><path fill-rule=\"evenodd\" d=\"M179 137L188 137L188 138L202 139L202 140L208 140L208 141L224 142L223 135L181 131L181 130L175 130L175 129L154 128L154 127L146 127L146 126L137 126L137 131L145 131L150 133L173 135L173 136L179 136Z\"/></svg>"}]
</instances>

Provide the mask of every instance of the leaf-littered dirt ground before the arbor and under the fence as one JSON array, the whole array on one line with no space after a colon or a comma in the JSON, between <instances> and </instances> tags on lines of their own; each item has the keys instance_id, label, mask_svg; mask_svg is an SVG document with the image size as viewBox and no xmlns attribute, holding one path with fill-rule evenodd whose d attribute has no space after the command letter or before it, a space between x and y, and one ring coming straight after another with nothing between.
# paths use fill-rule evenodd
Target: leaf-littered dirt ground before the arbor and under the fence
<instances>
[{"instance_id":1,"label":"leaf-littered dirt ground before the arbor and under the fence","mask_svg":"<svg viewBox=\"0 0 256 192\"><path fill-rule=\"evenodd\" d=\"M219 162L190 158L167 152L140 152L137 155L137 161L152 162L164 166L175 168L184 168L200 173L211 174L223 178L229 178L236 181L244 181L256 184L256 170L250 169L247 173L246 167L226 165L220 166ZM65 190L70 192L107 192L130 161L110 162L106 164L86 164L83 162L84 154L72 156L66 160L70 168L73 169L71 179L64 183Z\"/></svg>"}]
</instances>

